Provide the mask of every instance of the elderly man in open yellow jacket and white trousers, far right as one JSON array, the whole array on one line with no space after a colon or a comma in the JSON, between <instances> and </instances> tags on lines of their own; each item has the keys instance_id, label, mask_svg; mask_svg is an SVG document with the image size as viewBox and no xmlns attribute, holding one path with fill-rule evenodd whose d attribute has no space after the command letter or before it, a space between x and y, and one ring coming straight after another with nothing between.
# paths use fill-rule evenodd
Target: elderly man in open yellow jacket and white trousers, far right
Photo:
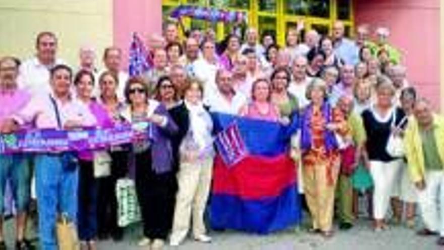
<instances>
[{"instance_id":1,"label":"elderly man in open yellow jacket and white trousers, far right","mask_svg":"<svg viewBox=\"0 0 444 250\"><path fill-rule=\"evenodd\" d=\"M426 99L415 103L414 117L404 136L405 152L426 228L419 235L436 235L444 245L444 117L433 114Z\"/></svg>"}]
</instances>

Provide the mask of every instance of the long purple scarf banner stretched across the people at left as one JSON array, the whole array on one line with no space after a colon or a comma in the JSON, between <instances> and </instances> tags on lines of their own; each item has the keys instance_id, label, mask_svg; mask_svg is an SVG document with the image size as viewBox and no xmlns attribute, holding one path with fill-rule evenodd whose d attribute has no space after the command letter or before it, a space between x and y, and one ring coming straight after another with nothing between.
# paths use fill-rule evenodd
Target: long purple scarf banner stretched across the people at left
<instances>
[{"instance_id":1,"label":"long purple scarf banner stretched across the people at left","mask_svg":"<svg viewBox=\"0 0 444 250\"><path fill-rule=\"evenodd\" d=\"M125 124L111 128L31 129L0 134L0 154L91 151L151 139L151 126L143 127L143 131L140 124Z\"/></svg>"}]
</instances>

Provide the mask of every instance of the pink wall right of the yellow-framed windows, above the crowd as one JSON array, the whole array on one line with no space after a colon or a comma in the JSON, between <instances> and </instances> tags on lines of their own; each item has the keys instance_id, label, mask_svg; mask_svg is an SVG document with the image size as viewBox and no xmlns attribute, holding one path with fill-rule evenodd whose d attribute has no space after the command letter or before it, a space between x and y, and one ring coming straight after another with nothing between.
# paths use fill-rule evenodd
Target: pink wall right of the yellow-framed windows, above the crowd
<instances>
[{"instance_id":1,"label":"pink wall right of the yellow-framed windows, above the crowd","mask_svg":"<svg viewBox=\"0 0 444 250\"><path fill-rule=\"evenodd\" d=\"M439 0L355 0L355 20L390 28L409 81L439 107Z\"/></svg>"}]
</instances>

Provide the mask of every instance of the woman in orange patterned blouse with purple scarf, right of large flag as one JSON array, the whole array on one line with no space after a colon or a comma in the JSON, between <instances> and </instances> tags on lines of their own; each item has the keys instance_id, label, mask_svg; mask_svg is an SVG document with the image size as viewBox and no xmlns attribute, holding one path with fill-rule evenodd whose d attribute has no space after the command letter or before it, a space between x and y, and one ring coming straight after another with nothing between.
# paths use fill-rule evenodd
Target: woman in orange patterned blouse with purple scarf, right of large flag
<instances>
[{"instance_id":1,"label":"woman in orange patterned blouse with purple scarf, right of large flag","mask_svg":"<svg viewBox=\"0 0 444 250\"><path fill-rule=\"evenodd\" d=\"M348 132L343 114L326 101L327 87L314 78L307 87L310 105L301 120L304 192L312 217L313 232L331 237L336 181L340 168L337 135Z\"/></svg>"}]
</instances>

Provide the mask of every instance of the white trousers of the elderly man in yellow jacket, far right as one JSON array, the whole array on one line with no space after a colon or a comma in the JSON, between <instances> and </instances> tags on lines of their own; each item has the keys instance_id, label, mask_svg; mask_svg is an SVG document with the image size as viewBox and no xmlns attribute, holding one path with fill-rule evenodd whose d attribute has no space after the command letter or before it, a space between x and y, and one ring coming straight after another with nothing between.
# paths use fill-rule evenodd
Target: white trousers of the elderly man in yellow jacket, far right
<instances>
[{"instance_id":1,"label":"white trousers of the elderly man in yellow jacket, far right","mask_svg":"<svg viewBox=\"0 0 444 250\"><path fill-rule=\"evenodd\" d=\"M421 217L427 229L444 236L444 172L426 171L425 189L418 190Z\"/></svg>"}]
</instances>

